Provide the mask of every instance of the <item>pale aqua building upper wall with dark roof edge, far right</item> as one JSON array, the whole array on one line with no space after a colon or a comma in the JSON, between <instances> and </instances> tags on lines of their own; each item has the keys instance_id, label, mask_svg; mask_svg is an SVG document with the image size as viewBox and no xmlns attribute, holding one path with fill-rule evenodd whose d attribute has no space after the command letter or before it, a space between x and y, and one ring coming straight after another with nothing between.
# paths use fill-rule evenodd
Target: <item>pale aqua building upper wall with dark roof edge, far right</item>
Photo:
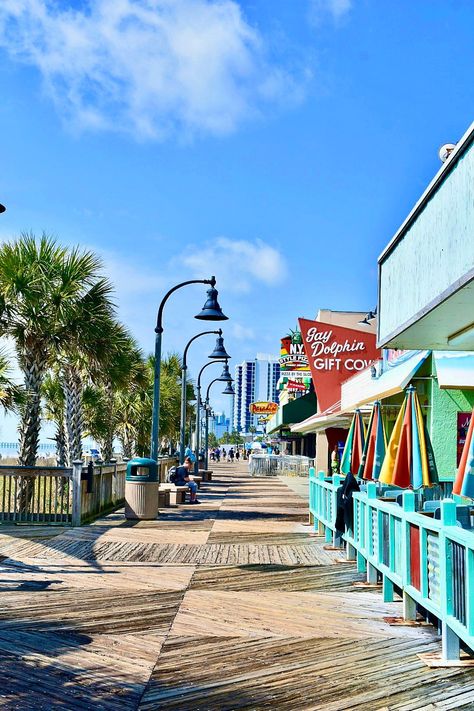
<instances>
[{"instance_id":1,"label":"pale aqua building upper wall with dark roof edge, far right","mask_svg":"<svg viewBox=\"0 0 474 711\"><path fill-rule=\"evenodd\" d=\"M474 123L378 264L379 346L474 350Z\"/></svg>"}]
</instances>

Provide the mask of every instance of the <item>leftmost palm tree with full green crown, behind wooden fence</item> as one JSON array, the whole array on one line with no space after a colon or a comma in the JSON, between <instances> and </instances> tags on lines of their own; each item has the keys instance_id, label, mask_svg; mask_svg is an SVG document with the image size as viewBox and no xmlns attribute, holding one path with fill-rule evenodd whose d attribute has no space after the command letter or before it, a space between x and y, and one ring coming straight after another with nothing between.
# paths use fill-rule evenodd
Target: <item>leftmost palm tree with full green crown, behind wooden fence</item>
<instances>
[{"instance_id":1,"label":"leftmost palm tree with full green crown, behind wooden fence","mask_svg":"<svg viewBox=\"0 0 474 711\"><path fill-rule=\"evenodd\" d=\"M20 465L36 463L41 386L48 367L61 350L83 340L104 311L113 310L112 287L101 269L92 252L68 249L44 234L40 240L23 234L0 247L0 335L15 341L26 390ZM22 481L21 505L31 495L31 486Z\"/></svg>"}]
</instances>

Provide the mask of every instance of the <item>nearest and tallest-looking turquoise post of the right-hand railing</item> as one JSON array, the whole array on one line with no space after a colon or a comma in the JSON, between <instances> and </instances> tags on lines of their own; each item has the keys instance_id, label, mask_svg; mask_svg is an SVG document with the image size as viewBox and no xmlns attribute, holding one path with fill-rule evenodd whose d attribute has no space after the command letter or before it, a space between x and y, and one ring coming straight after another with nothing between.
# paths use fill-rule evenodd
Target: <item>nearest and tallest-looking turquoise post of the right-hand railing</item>
<instances>
[{"instance_id":1,"label":"nearest and tallest-looking turquoise post of the right-hand railing","mask_svg":"<svg viewBox=\"0 0 474 711\"><path fill-rule=\"evenodd\" d=\"M459 659L459 637L448 625L453 610L453 555L445 526L456 525L456 504L452 499L441 502L440 530L440 597L441 597L441 655L443 659Z\"/></svg>"}]
</instances>

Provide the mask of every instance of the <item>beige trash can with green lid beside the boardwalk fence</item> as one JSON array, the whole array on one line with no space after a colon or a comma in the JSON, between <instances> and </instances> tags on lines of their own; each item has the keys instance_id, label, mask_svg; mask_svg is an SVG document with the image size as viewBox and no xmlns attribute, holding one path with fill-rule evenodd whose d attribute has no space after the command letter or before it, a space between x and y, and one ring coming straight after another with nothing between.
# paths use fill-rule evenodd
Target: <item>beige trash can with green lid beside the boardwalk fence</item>
<instances>
[{"instance_id":1,"label":"beige trash can with green lid beside the boardwalk fence","mask_svg":"<svg viewBox=\"0 0 474 711\"><path fill-rule=\"evenodd\" d=\"M131 459L125 475L125 518L156 519L158 485L158 465L153 459Z\"/></svg>"}]
</instances>

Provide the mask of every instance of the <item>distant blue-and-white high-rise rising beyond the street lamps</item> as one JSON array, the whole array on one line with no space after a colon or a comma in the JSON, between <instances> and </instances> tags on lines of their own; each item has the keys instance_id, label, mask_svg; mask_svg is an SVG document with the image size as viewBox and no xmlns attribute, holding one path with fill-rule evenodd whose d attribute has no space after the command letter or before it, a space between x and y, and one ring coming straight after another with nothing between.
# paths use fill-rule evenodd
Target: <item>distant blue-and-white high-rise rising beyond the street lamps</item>
<instances>
[{"instance_id":1,"label":"distant blue-and-white high-rise rising beyond the street lamps","mask_svg":"<svg viewBox=\"0 0 474 711\"><path fill-rule=\"evenodd\" d=\"M277 382L280 377L278 357L257 353L253 360L235 366L235 395L232 405L233 429L249 432L258 426L258 418L250 414L251 402L278 402Z\"/></svg>"}]
</instances>

